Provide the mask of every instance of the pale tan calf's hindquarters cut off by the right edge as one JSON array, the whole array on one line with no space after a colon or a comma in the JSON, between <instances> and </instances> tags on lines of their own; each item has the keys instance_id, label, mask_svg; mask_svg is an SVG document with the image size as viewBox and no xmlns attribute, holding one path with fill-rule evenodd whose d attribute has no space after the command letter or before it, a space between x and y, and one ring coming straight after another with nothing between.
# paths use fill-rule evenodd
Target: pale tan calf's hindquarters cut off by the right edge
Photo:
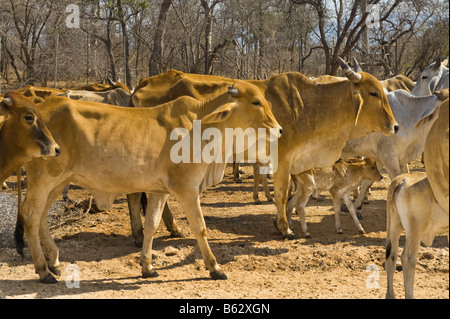
<instances>
[{"instance_id":1,"label":"pale tan calf's hindquarters cut off by the right edge","mask_svg":"<svg viewBox=\"0 0 450 319\"><path fill-rule=\"evenodd\" d=\"M386 298L395 298L393 279L400 235L405 230L406 244L401 261L405 285L405 297L414 298L414 272L420 242L427 246L438 234L447 233L448 214L438 204L423 172L398 176L388 190L387 238L386 238Z\"/></svg>"}]
</instances>

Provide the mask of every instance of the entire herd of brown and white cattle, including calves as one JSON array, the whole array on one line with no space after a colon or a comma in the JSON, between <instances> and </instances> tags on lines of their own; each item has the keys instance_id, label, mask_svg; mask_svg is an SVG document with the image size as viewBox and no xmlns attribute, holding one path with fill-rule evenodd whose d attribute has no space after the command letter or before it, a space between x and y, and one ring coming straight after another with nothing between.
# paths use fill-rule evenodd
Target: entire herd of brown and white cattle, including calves
<instances>
[{"instance_id":1,"label":"entire herd of brown and white cattle, including calves","mask_svg":"<svg viewBox=\"0 0 450 319\"><path fill-rule=\"evenodd\" d=\"M385 169L393 180L387 198L387 297L394 297L398 241L405 230L401 260L406 297L412 298L420 242L431 245L437 234L448 234L449 69L438 59L417 83L405 76L378 81L356 61L355 70L339 62L345 77L310 79L289 72L242 81L172 70L142 79L133 93L111 82L77 90L28 86L0 96L0 181L26 164L27 195L14 234L17 251L23 254L25 235L40 281L56 282L59 252L47 212L73 183L90 191L101 209L127 194L132 236L142 246L142 275L158 276L152 241L161 217L172 235L182 235L166 204L173 195L211 277L226 279L206 238L200 194L222 180L227 164L174 163L170 150L177 141L169 136L178 128L191 131L194 120L201 120L202 132L272 128L279 132L275 226L283 238L296 238L293 208L309 236L305 206L319 190L332 194L338 233L342 200L364 233L356 208ZM408 162L422 153L426 174L409 173ZM254 167L258 202L259 180L267 185L267 177L258 173L258 164ZM359 185L353 204L349 194ZM145 193L150 196L144 227ZM271 199L270 192L266 196Z\"/></svg>"}]
</instances>

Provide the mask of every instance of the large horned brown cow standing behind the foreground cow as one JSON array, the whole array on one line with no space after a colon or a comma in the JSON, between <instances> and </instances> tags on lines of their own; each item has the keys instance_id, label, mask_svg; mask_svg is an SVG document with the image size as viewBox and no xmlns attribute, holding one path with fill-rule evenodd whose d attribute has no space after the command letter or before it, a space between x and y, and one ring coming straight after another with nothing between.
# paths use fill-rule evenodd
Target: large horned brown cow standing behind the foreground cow
<instances>
[{"instance_id":1,"label":"large horned brown cow standing behind the foreground cow","mask_svg":"<svg viewBox=\"0 0 450 319\"><path fill-rule=\"evenodd\" d=\"M399 128L380 82L368 73L352 71L342 60L340 63L348 78L345 81L316 83L297 72L248 81L264 93L284 129L274 173L277 228L284 237L295 238L286 219L290 174L332 165L349 138L376 131L391 135ZM150 106L180 94L209 96L226 91L233 81L170 71L142 80L132 103Z\"/></svg>"}]
</instances>

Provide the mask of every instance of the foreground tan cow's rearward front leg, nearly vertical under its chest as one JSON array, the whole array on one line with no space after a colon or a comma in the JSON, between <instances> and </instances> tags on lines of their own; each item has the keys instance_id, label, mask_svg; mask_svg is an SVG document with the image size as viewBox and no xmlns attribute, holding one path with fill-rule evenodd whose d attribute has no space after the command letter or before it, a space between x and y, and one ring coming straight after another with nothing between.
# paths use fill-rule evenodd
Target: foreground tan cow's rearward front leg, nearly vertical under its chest
<instances>
[{"instance_id":1,"label":"foreground tan cow's rearward front leg, nearly vertical under its chest","mask_svg":"<svg viewBox=\"0 0 450 319\"><path fill-rule=\"evenodd\" d=\"M145 278L158 276L158 273L153 270L152 266L153 236L161 222L162 210L168 197L168 194L158 193L152 193L149 197L141 252L142 276Z\"/></svg>"}]
</instances>

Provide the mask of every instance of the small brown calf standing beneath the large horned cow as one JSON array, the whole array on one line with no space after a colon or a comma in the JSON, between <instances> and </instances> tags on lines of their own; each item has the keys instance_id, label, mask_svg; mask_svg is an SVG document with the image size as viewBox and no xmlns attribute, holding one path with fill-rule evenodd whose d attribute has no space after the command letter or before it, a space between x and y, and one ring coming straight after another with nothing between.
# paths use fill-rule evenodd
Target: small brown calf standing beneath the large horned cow
<instances>
[{"instance_id":1,"label":"small brown calf standing beneath the large horned cow","mask_svg":"<svg viewBox=\"0 0 450 319\"><path fill-rule=\"evenodd\" d=\"M287 217L290 222L292 209L295 207L300 215L300 223L306 237L309 238L310 234L305 222L305 206L314 191L329 191L331 193L338 234L342 234L340 220L341 199L344 200L359 232L364 234L364 228L356 217L355 206L350 200L350 192L363 179L381 180L382 176L373 159L338 160L333 166L313 168L300 174L291 175L291 177L295 185L295 192L287 204Z\"/></svg>"}]
</instances>

